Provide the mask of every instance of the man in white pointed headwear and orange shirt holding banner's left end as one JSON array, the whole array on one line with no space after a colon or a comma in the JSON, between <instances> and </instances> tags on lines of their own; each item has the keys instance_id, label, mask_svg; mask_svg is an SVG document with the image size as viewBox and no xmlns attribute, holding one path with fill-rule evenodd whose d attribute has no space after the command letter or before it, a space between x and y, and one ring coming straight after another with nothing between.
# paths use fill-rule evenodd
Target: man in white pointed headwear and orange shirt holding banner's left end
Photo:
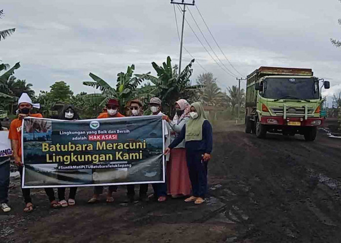
<instances>
[{"instance_id":1,"label":"man in white pointed headwear and orange shirt holding banner's left end","mask_svg":"<svg viewBox=\"0 0 341 243\"><path fill-rule=\"evenodd\" d=\"M20 178L22 180L23 163L21 162L21 124L25 117L42 118L41 114L31 114L33 107L40 108L39 104L33 104L31 98L27 93L22 93L19 101L19 115L17 119L11 122L8 138L11 139L11 145L14 155L15 164L18 166ZM22 195L25 201L24 212L33 211L33 204L31 199L31 190L29 188L21 188ZM45 188L45 192L49 197L51 208L60 208L60 204L55 199L55 192L53 188Z\"/></svg>"}]
</instances>

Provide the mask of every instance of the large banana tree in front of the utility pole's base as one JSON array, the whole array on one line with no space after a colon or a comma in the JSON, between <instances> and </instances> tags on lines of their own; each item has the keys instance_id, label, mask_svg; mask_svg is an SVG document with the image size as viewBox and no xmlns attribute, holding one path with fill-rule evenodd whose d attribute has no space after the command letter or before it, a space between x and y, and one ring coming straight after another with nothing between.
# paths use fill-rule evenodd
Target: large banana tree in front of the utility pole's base
<instances>
[{"instance_id":1,"label":"large banana tree in front of the utility pole's base","mask_svg":"<svg viewBox=\"0 0 341 243\"><path fill-rule=\"evenodd\" d=\"M157 73L157 77L146 75L144 79L149 80L153 84L151 93L153 96L159 97L163 104L163 110L169 114L174 111L175 101L178 99L186 99L192 102L195 99L196 93L200 88L199 85L191 85L189 80L192 75L192 64L194 59L186 66L185 69L178 75L178 67L171 66L171 59L168 56L167 62L158 66L152 62L152 67ZM142 78L142 76L136 75Z\"/></svg>"}]
</instances>

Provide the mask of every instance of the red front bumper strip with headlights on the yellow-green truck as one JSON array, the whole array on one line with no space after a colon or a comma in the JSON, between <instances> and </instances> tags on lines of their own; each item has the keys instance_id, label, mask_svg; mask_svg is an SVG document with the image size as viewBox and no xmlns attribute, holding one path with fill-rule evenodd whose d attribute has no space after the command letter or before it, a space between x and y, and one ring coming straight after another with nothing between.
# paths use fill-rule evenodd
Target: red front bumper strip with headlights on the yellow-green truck
<instances>
[{"instance_id":1,"label":"red front bumper strip with headlights on the yellow-green truck","mask_svg":"<svg viewBox=\"0 0 341 243\"><path fill-rule=\"evenodd\" d=\"M322 118L308 118L304 120L304 118L300 117L287 117L285 120L283 117L265 117L263 116L261 119L261 123L265 125L273 125L273 126L293 126L288 124L289 122L300 122L300 125L296 126L322 126L323 119Z\"/></svg>"}]
</instances>

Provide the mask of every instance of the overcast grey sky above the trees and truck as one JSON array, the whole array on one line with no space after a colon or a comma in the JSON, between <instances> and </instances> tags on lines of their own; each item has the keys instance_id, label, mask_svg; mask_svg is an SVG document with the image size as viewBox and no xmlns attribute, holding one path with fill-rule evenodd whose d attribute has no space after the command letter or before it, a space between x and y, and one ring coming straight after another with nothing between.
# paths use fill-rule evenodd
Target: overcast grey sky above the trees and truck
<instances>
[{"instance_id":1,"label":"overcast grey sky above the trees and truck","mask_svg":"<svg viewBox=\"0 0 341 243\"><path fill-rule=\"evenodd\" d=\"M329 41L341 37L338 0L196 0L196 5L240 73L247 75L260 66L312 68L315 76L331 82L325 94L341 91L341 48ZM189 8L218 57L236 73L196 8ZM5 13L0 29L17 28L1 40L0 60L11 65L20 61L15 75L32 83L37 92L61 80L75 93L92 92L82 85L90 80L89 72L114 84L116 74L128 65L135 64L136 73L145 73L152 71L152 61L161 64L168 55L173 64L179 61L170 0L1 0L0 9ZM176 14L180 28L180 12ZM186 18L210 51L189 12ZM187 24L184 46L213 72L222 88L237 84L212 60ZM190 59L184 50L183 65ZM195 81L204 70L197 63L193 67Z\"/></svg>"}]
</instances>

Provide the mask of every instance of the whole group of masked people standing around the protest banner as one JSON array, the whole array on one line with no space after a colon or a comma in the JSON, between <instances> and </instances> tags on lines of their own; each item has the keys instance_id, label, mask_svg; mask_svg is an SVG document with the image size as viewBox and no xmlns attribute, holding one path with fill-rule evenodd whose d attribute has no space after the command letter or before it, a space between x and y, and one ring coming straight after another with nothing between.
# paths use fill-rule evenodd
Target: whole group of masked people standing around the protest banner
<instances>
[{"instance_id":1,"label":"whole group of masked people standing around the protest banner","mask_svg":"<svg viewBox=\"0 0 341 243\"><path fill-rule=\"evenodd\" d=\"M22 179L23 164L21 162L21 124L25 117L42 118L41 114L33 114L32 108L38 107L33 104L31 98L23 93L18 102L18 118L10 124L8 139L11 140L15 164L18 167ZM142 116L143 103L134 99L126 107L129 108L128 116ZM140 201L155 199L158 202L167 200L167 195L173 198L184 197L185 202L201 204L204 202L208 189L207 172L208 161L212 151L212 127L208 121L203 106L200 103L189 104L186 100L180 99L175 103L176 113L171 120L169 116L162 113L162 102L159 98L153 97L149 102L149 109L152 115L162 116L165 135L166 156L166 182L153 183L153 193L149 196L148 184L139 185ZM124 117L120 112L120 103L116 99L109 99L97 119ZM80 117L75 107L66 105L59 115L60 120L79 120ZM0 131L5 130L0 125ZM10 158L0 157L0 205L4 212L11 208L8 205L8 188L10 180ZM24 212L31 212L34 205L31 199L30 189L21 189L25 207ZM65 188L58 188L58 200L55 197L53 188L45 188L51 208L64 208L76 204L77 187L71 187L68 200L65 197ZM107 192L107 203L114 202L113 192L117 186L109 186ZM94 194L88 203L99 201L103 193L103 186L95 186ZM130 202L135 200L135 185L127 185L127 196Z\"/></svg>"}]
</instances>

